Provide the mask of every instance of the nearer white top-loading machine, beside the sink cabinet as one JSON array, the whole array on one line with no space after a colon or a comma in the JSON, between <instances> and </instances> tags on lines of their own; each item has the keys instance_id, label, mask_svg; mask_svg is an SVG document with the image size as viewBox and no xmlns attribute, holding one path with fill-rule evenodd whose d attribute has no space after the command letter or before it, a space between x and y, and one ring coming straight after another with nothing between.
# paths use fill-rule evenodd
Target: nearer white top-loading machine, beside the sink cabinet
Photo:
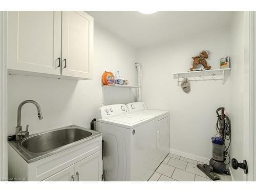
<instances>
[{"instance_id":1,"label":"nearer white top-loading machine, beside the sink cabinet","mask_svg":"<svg viewBox=\"0 0 256 192\"><path fill-rule=\"evenodd\" d=\"M154 119L130 114L125 104L99 108L96 131L104 140L106 181L147 181L161 163Z\"/></svg>"}]
</instances>

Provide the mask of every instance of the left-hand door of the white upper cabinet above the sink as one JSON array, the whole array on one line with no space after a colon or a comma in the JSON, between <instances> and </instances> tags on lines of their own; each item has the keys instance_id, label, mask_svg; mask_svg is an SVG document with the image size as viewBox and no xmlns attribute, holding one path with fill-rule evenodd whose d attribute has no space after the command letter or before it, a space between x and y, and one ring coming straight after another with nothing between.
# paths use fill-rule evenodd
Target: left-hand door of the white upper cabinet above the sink
<instances>
[{"instance_id":1,"label":"left-hand door of the white upper cabinet above the sink","mask_svg":"<svg viewBox=\"0 0 256 192\"><path fill-rule=\"evenodd\" d=\"M8 12L8 69L60 75L61 12Z\"/></svg>"}]
</instances>

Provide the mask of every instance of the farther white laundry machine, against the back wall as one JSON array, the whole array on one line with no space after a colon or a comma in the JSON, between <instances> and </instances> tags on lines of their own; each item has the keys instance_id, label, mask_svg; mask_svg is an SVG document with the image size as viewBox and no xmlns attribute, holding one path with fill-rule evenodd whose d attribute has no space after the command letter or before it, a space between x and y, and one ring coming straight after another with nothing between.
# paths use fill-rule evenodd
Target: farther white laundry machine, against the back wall
<instances>
[{"instance_id":1,"label":"farther white laundry machine, against the back wall","mask_svg":"<svg viewBox=\"0 0 256 192\"><path fill-rule=\"evenodd\" d=\"M144 102L128 103L126 106L130 114L148 116L154 119L156 148L159 151L159 158L163 160L169 153L169 112L149 110Z\"/></svg>"}]
</instances>

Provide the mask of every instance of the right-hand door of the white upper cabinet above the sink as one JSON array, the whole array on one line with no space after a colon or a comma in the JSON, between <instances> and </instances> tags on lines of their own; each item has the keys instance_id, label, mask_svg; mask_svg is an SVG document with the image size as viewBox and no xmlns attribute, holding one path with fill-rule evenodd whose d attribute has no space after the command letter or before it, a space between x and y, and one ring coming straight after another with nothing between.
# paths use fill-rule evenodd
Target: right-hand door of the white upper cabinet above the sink
<instances>
[{"instance_id":1,"label":"right-hand door of the white upper cabinet above the sink","mask_svg":"<svg viewBox=\"0 0 256 192\"><path fill-rule=\"evenodd\" d=\"M93 17L82 11L62 12L62 75L93 78Z\"/></svg>"}]
</instances>

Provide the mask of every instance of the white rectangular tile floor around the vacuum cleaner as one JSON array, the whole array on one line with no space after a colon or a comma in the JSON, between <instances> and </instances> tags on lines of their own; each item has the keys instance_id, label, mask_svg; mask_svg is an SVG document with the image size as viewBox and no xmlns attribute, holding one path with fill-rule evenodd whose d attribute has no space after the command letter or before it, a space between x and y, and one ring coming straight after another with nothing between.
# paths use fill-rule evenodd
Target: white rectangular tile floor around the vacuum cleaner
<instances>
[{"instance_id":1,"label":"white rectangular tile floor around the vacuum cleaner","mask_svg":"<svg viewBox=\"0 0 256 192\"><path fill-rule=\"evenodd\" d=\"M199 168L202 162L168 154L148 181L212 181ZM232 181L231 176L218 174L218 181Z\"/></svg>"}]
</instances>

